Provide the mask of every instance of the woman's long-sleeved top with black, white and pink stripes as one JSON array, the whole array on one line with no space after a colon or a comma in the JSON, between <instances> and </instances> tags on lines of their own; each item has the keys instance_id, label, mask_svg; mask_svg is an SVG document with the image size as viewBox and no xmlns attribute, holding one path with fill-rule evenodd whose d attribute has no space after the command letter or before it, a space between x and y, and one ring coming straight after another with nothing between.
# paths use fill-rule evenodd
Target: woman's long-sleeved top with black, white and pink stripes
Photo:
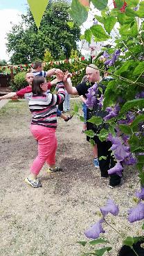
<instances>
[{"instance_id":1,"label":"woman's long-sleeved top with black, white and pink stripes","mask_svg":"<svg viewBox=\"0 0 144 256\"><path fill-rule=\"evenodd\" d=\"M28 105L32 113L31 124L46 126L48 128L57 127L57 108L56 105L64 101L64 84L57 83L59 88L57 94L41 94L31 97Z\"/></svg>"}]
</instances>

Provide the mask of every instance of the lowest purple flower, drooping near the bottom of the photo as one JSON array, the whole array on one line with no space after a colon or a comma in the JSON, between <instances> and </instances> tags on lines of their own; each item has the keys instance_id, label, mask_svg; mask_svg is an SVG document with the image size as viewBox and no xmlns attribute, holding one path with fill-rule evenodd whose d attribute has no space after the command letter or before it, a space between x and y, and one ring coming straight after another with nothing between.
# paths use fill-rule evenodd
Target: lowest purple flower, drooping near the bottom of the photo
<instances>
[{"instance_id":1,"label":"lowest purple flower, drooping near the bottom of the photo","mask_svg":"<svg viewBox=\"0 0 144 256\"><path fill-rule=\"evenodd\" d=\"M94 225L89 228L89 230L84 231L84 234L87 238L96 239L100 236L100 233L105 233L105 230L102 228L102 223L104 222L103 219L96 222Z\"/></svg>"}]
</instances>

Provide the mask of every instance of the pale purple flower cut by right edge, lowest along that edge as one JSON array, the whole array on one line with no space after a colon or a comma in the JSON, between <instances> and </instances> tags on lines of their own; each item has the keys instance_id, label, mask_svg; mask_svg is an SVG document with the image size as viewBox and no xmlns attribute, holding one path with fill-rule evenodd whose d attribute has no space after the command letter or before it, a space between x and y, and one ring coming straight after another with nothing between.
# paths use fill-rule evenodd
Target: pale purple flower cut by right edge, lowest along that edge
<instances>
[{"instance_id":1,"label":"pale purple flower cut by right edge, lowest along that edge","mask_svg":"<svg viewBox=\"0 0 144 256\"><path fill-rule=\"evenodd\" d=\"M144 219L144 204L138 203L138 205L135 208L130 209L128 213L128 220L130 223L134 221L141 221Z\"/></svg>"}]
</instances>

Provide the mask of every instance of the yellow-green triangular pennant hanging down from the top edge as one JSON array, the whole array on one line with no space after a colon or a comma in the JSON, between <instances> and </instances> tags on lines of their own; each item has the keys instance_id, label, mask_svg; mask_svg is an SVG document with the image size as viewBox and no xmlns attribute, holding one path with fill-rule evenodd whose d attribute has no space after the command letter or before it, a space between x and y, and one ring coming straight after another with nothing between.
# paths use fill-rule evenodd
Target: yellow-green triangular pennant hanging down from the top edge
<instances>
[{"instance_id":1,"label":"yellow-green triangular pennant hanging down from the top edge","mask_svg":"<svg viewBox=\"0 0 144 256\"><path fill-rule=\"evenodd\" d=\"M28 5L30 6L30 11L33 14L33 18L35 19L35 24L37 28L39 28L42 16L44 15L44 11L46 10L46 6L48 5L48 0L41 0L35 3L35 0L27 0Z\"/></svg>"}]
</instances>

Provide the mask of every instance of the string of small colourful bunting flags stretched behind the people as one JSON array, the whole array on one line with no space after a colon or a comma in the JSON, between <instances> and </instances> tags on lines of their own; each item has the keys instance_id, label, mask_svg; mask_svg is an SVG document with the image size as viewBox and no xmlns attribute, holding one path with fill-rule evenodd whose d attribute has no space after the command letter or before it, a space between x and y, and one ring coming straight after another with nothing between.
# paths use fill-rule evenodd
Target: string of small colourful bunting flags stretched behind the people
<instances>
[{"instance_id":1,"label":"string of small colourful bunting flags stretched behind the people","mask_svg":"<svg viewBox=\"0 0 144 256\"><path fill-rule=\"evenodd\" d=\"M66 59L66 60L56 60L56 61L50 61L50 62L43 62L43 67L46 65L60 65L64 63L73 63L75 61L82 61L84 60L84 56L82 57L77 57L77 58L72 58L72 59ZM33 68L34 63L30 64L21 64L21 65L7 65L7 66L0 66L0 70L5 70L5 69L28 69L28 68Z\"/></svg>"}]
</instances>

